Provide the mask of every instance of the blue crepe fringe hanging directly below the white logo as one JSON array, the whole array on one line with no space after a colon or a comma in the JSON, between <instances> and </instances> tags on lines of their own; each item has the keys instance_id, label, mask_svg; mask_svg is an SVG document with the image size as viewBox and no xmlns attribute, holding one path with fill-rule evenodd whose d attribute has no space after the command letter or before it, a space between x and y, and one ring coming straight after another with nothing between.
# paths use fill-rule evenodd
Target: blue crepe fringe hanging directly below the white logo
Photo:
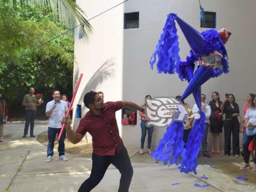
<instances>
[{"instance_id":1,"label":"blue crepe fringe hanging directly below the white logo","mask_svg":"<svg viewBox=\"0 0 256 192\"><path fill-rule=\"evenodd\" d=\"M159 141L158 147L152 152L152 157L163 161L166 165L170 160L169 166L173 163L178 164L178 158L181 155L185 155L186 149L184 149L183 142L183 128L182 122L174 121L166 129L163 138Z\"/></svg>"}]
</instances>

